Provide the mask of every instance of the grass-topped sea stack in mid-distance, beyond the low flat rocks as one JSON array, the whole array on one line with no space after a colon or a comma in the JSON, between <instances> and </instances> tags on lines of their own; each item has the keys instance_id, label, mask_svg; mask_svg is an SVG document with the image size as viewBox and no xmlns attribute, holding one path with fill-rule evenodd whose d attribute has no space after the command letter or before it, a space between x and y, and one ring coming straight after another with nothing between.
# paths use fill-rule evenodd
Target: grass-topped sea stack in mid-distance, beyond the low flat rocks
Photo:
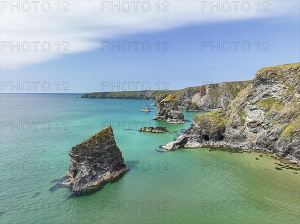
<instances>
[{"instance_id":1,"label":"grass-topped sea stack in mid-distance, beyond the low flat rocks","mask_svg":"<svg viewBox=\"0 0 300 224\"><path fill-rule=\"evenodd\" d=\"M158 104L158 109L153 120L166 120L167 123L184 123L184 115L177 106L174 94L168 95Z\"/></svg>"}]
</instances>

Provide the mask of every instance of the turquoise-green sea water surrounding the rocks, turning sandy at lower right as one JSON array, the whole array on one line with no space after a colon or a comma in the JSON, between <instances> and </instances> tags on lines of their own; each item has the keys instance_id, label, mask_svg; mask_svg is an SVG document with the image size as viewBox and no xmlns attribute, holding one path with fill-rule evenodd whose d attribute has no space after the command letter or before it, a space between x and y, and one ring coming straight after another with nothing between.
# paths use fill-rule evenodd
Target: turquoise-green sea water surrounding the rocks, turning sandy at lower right
<instances>
[{"instance_id":1,"label":"turquoise-green sea water surrounding the rocks, turning sandy at lower right","mask_svg":"<svg viewBox=\"0 0 300 224\"><path fill-rule=\"evenodd\" d=\"M153 121L155 110L139 112L150 100L80 96L0 95L1 224L299 223L299 171L276 170L269 154L157 152L190 122ZM196 114L183 113L188 120ZM60 185L68 150L107 124L129 172L94 194L70 197ZM169 132L137 131L149 125Z\"/></svg>"}]
</instances>

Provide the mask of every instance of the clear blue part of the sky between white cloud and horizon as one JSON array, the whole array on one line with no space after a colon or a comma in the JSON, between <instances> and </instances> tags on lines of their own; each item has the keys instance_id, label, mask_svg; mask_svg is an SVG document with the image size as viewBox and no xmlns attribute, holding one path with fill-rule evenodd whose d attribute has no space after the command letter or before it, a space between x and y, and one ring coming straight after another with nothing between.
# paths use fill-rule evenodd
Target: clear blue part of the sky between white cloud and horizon
<instances>
[{"instance_id":1,"label":"clear blue part of the sky between white cloud and horizon","mask_svg":"<svg viewBox=\"0 0 300 224\"><path fill-rule=\"evenodd\" d=\"M56 81L68 81L69 92L93 92L101 91L101 81L112 81L114 84L117 81L147 81L151 84L151 89L157 88L154 84L157 81L167 81L167 89L181 89L206 82L249 80L261 67L300 61L299 18L299 13L295 13L229 21L219 19L95 38L93 41L97 43L149 41L151 49L143 51L138 44L134 51L132 44L129 51L117 51L116 48L111 51L109 47L101 50L98 45L86 51L59 55L43 62L1 68L1 81L16 83L47 80L52 85ZM169 51L157 51L157 41L160 41L160 46L162 41L167 41ZM220 44L228 41L231 49L217 51L214 47L211 51L210 47L206 47L201 50L201 41L212 41L214 44L217 41ZM232 41L248 41L251 48L245 51L237 43L235 51ZM225 42L223 46L227 47ZM268 51L262 51L263 47ZM140 84L137 84L137 89L141 89ZM31 90L33 89L29 92L34 92ZM110 91L111 88L106 87L103 90ZM130 90L135 90L133 84ZM1 92L11 91L4 88ZM37 92L43 91L39 89ZM52 88L49 92L56 90Z\"/></svg>"}]
</instances>

